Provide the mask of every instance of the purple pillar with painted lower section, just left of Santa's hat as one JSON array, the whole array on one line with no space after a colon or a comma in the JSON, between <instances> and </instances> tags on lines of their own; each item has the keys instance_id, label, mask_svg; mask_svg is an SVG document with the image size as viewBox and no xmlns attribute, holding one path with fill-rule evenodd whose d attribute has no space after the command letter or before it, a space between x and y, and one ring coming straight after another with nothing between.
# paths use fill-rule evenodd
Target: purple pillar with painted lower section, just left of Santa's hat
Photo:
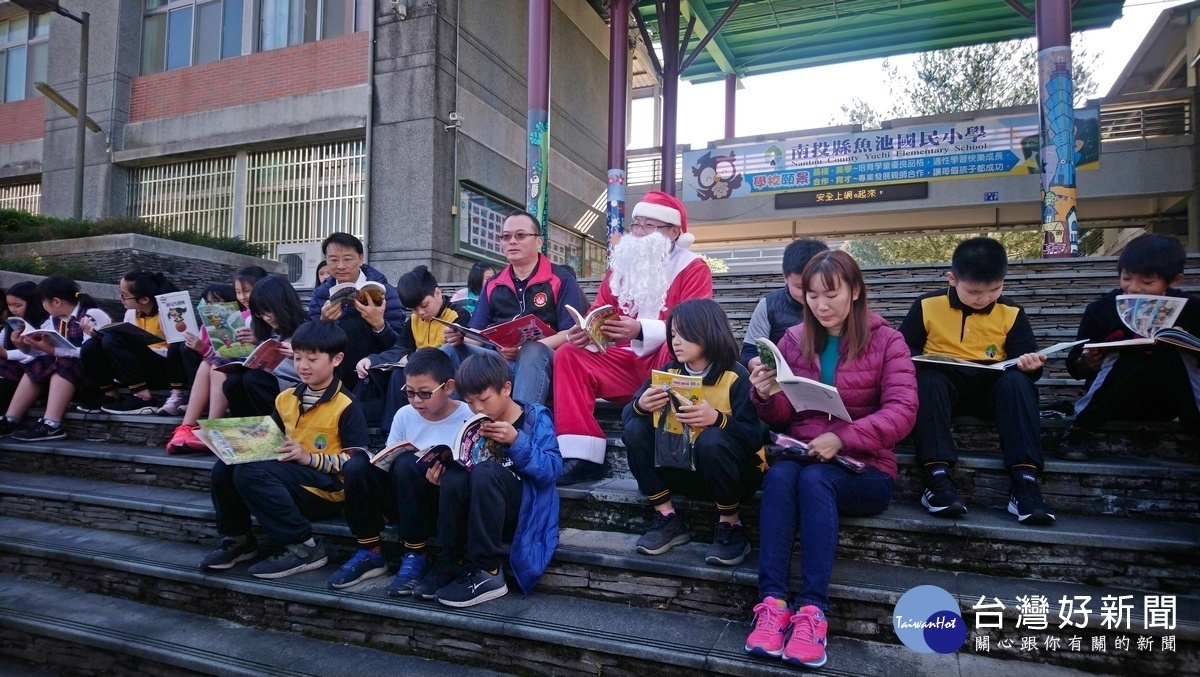
<instances>
[{"instance_id":1,"label":"purple pillar with painted lower section, just left of Santa's hat","mask_svg":"<svg viewBox=\"0 0 1200 677\"><path fill-rule=\"evenodd\" d=\"M629 103L630 0L608 8L608 253L625 229L625 122Z\"/></svg>"}]
</instances>

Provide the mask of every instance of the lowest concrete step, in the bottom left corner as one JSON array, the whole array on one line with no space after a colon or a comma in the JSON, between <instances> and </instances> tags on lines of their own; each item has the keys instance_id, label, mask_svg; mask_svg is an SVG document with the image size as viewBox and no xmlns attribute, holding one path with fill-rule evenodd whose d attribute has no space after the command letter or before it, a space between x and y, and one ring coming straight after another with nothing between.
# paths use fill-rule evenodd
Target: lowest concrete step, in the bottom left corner
<instances>
[{"instance_id":1,"label":"lowest concrete step, in the bottom left corner","mask_svg":"<svg viewBox=\"0 0 1200 677\"><path fill-rule=\"evenodd\" d=\"M7 655L47 667L82 664L104 675L504 675L28 579L0 581L0 627L24 643L5 647Z\"/></svg>"}]
</instances>

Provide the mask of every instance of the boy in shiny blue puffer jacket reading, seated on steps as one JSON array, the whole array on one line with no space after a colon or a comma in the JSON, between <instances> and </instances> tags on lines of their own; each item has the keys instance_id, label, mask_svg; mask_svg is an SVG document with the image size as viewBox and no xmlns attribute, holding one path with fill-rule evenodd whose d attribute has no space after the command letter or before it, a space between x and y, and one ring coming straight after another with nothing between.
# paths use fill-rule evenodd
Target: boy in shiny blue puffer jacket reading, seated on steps
<instances>
[{"instance_id":1,"label":"boy in shiny blue puffer jacket reading, seated on steps","mask_svg":"<svg viewBox=\"0 0 1200 677\"><path fill-rule=\"evenodd\" d=\"M509 364L498 353L463 360L455 385L470 411L492 419L484 437L498 443L497 459L466 471L436 463L426 479L439 485L438 539L463 553L462 573L438 588L446 606L474 606L509 592L500 571L503 541L517 586L533 592L558 547L558 490L563 469L550 411L512 399ZM444 555L443 555L444 556Z\"/></svg>"}]
</instances>

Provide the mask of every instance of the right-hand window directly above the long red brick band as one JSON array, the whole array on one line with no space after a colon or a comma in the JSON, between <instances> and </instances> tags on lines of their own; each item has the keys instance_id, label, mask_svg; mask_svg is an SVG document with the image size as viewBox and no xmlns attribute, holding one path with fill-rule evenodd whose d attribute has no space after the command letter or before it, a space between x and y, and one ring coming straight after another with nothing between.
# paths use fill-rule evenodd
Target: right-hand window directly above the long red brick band
<instances>
[{"instance_id":1,"label":"right-hand window directly above the long red brick band","mask_svg":"<svg viewBox=\"0 0 1200 677\"><path fill-rule=\"evenodd\" d=\"M258 49L278 49L358 30L356 0L258 0ZM370 2L362 2L368 6Z\"/></svg>"}]
</instances>

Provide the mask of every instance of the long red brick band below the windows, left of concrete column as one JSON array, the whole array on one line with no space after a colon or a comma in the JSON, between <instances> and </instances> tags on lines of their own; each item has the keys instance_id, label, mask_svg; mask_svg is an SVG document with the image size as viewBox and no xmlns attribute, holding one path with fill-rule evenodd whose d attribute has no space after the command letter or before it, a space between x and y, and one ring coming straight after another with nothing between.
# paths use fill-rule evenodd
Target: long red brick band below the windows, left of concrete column
<instances>
[{"instance_id":1,"label":"long red brick band below the windows, left of concrete column","mask_svg":"<svg viewBox=\"0 0 1200 677\"><path fill-rule=\"evenodd\" d=\"M130 121L185 115L361 84L366 82L366 68L367 32L359 31L140 76L133 78Z\"/></svg>"}]
</instances>

